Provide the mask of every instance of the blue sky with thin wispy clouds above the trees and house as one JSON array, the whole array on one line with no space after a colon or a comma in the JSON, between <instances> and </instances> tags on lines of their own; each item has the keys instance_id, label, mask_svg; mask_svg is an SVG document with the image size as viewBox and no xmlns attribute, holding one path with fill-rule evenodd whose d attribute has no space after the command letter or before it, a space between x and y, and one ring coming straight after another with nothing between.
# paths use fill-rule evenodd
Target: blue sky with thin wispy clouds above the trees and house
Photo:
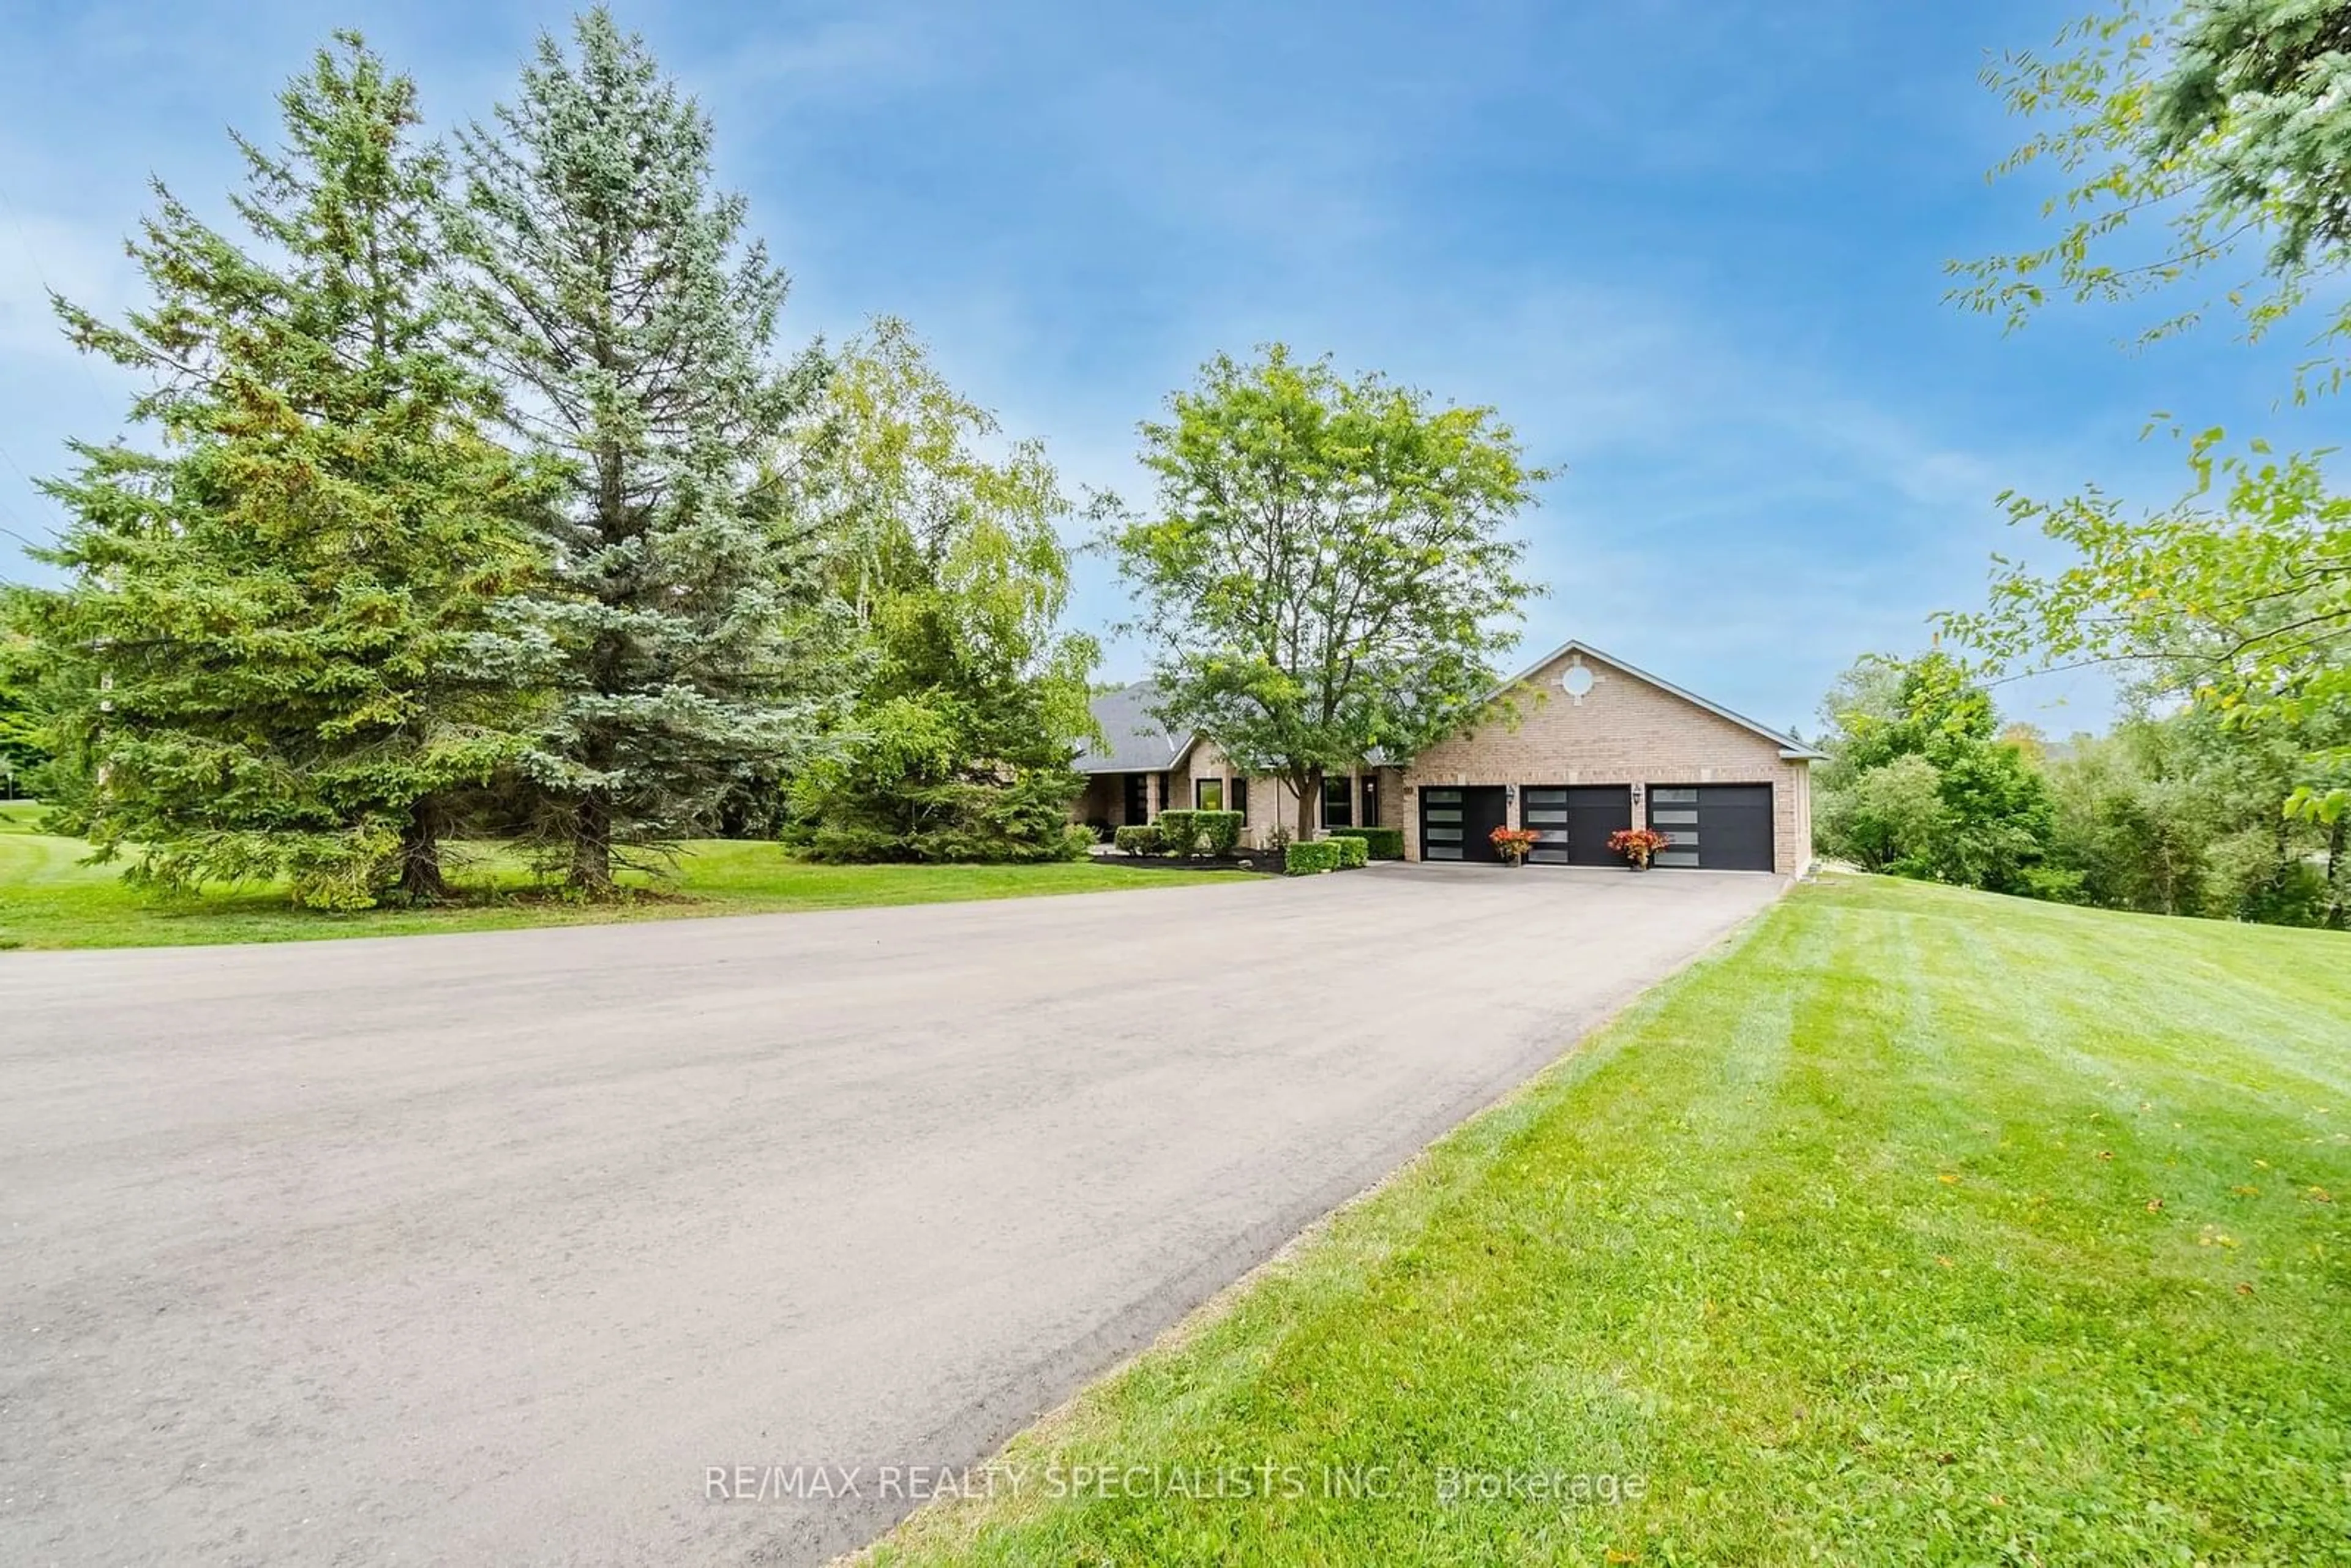
<instances>
[{"instance_id":1,"label":"blue sky with thin wispy clouds above the trees and house","mask_svg":"<svg viewBox=\"0 0 2351 1568\"><path fill-rule=\"evenodd\" d=\"M205 212L223 127L360 26L447 127L567 5L14 0L0 14L0 527L120 428L42 287L134 299L120 235L162 176ZM1585 637L1770 724L1867 649L1970 607L2005 487L2149 501L2149 411L2332 437L2226 331L2128 355L2128 320L2003 336L1947 256L2036 240L1987 186L2017 125L1975 82L2081 0L1606 5L618 5L710 108L726 183L795 275L792 339L905 315L1072 489L1140 501L1133 425L1215 350L1284 339L1488 402L1559 465L1523 520L1526 654ZM1074 524L1072 524L1074 534ZM45 569L0 538L0 576ZM1077 621L1124 614L1086 559ZM1140 672L1112 644L1105 675ZM2102 677L2003 689L2057 733Z\"/></svg>"}]
</instances>

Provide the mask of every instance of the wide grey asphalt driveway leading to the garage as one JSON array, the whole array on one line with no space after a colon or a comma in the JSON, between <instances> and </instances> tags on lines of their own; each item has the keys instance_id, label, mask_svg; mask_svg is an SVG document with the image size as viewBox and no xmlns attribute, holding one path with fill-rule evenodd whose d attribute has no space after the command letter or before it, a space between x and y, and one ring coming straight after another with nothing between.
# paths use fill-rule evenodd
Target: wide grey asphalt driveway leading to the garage
<instances>
[{"instance_id":1,"label":"wide grey asphalt driveway leading to the garage","mask_svg":"<svg viewBox=\"0 0 2351 1568\"><path fill-rule=\"evenodd\" d=\"M818 1561L1777 891L0 954L0 1561Z\"/></svg>"}]
</instances>

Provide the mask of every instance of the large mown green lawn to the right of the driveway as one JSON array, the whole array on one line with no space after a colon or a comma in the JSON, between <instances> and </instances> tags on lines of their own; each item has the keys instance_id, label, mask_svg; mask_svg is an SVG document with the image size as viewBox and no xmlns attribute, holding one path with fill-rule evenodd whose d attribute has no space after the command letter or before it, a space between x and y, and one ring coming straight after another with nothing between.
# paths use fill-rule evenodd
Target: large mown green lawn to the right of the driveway
<instances>
[{"instance_id":1,"label":"large mown green lawn to the right of the driveway","mask_svg":"<svg viewBox=\"0 0 2351 1568\"><path fill-rule=\"evenodd\" d=\"M2351 1561L2346 1211L2351 938L1803 886L877 1559Z\"/></svg>"}]
</instances>

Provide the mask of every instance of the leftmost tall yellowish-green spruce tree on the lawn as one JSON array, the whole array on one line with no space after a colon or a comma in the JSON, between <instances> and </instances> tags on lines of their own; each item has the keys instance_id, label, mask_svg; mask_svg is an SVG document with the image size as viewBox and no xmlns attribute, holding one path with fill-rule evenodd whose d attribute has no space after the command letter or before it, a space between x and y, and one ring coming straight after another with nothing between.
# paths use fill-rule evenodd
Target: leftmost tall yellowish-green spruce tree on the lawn
<instances>
[{"instance_id":1,"label":"leftmost tall yellowish-green spruce tree on the lawn","mask_svg":"<svg viewBox=\"0 0 2351 1568\"><path fill-rule=\"evenodd\" d=\"M158 183L129 244L155 303L56 301L153 376L132 414L160 449L75 444L45 487L75 581L26 614L101 858L136 846L165 889L287 877L320 907L437 896L449 792L515 752L480 670L487 604L529 569L498 517L517 477L430 306L444 169L414 85L341 33L280 106L282 150L237 136L252 249Z\"/></svg>"}]
</instances>

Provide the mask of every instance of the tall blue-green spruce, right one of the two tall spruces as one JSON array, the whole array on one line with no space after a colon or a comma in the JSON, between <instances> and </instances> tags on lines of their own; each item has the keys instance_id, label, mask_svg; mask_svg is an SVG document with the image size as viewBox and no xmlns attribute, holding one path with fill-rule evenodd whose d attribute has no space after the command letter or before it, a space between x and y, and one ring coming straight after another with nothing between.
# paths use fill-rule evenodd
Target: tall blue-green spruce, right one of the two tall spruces
<instances>
[{"instance_id":1,"label":"tall blue-green spruce, right one of the two tall spruces","mask_svg":"<svg viewBox=\"0 0 2351 1568\"><path fill-rule=\"evenodd\" d=\"M574 889L614 851L708 830L816 726L795 628L813 550L762 482L820 383L769 360L785 277L710 190L710 120L604 9L552 38L520 96L461 136L463 313L515 430L560 487L548 578L515 616L552 708L527 776Z\"/></svg>"}]
</instances>

